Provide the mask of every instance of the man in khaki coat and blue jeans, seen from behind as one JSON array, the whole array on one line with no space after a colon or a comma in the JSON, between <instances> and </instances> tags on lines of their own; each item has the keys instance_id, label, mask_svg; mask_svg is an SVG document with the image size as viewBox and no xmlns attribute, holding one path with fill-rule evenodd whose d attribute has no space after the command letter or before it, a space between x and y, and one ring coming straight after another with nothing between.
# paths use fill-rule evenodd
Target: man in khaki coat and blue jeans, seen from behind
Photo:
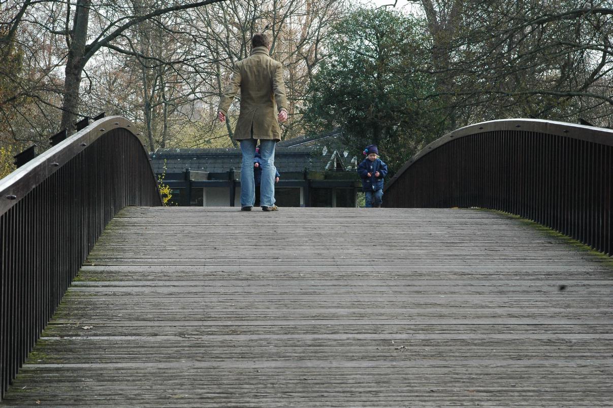
<instances>
[{"instance_id":1,"label":"man in khaki coat and blue jeans, seen from behind","mask_svg":"<svg viewBox=\"0 0 613 408\"><path fill-rule=\"evenodd\" d=\"M240 143L240 206L251 211L255 200L253 158L257 140L262 155L260 203L264 211L277 211L275 205L275 146L281 140L279 123L287 119L287 98L281 62L270 58L270 41L262 33L251 38L251 55L234 64L230 83L219 100L218 118L226 121L227 110L240 89L240 113L234 140Z\"/></svg>"}]
</instances>

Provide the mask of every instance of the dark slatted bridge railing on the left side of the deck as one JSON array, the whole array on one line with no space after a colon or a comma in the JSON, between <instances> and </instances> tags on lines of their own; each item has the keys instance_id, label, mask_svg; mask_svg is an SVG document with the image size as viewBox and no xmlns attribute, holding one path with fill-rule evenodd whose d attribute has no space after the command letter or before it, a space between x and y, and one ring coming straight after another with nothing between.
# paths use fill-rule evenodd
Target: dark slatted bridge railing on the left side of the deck
<instances>
[{"instance_id":1,"label":"dark slatted bridge railing on the left side of the deck","mask_svg":"<svg viewBox=\"0 0 613 408\"><path fill-rule=\"evenodd\" d=\"M107 223L161 205L131 129L100 119L0 180L0 400Z\"/></svg>"}]
</instances>

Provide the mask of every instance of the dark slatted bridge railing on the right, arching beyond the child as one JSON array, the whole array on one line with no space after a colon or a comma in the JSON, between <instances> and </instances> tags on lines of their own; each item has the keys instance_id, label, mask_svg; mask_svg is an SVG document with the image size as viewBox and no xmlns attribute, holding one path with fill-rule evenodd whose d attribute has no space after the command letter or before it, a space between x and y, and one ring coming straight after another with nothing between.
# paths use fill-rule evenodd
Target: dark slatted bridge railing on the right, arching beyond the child
<instances>
[{"instance_id":1,"label":"dark slatted bridge railing on the right, arching beyond the child","mask_svg":"<svg viewBox=\"0 0 613 408\"><path fill-rule=\"evenodd\" d=\"M509 119L455 130L390 180L384 205L481 207L613 252L613 130Z\"/></svg>"}]
</instances>

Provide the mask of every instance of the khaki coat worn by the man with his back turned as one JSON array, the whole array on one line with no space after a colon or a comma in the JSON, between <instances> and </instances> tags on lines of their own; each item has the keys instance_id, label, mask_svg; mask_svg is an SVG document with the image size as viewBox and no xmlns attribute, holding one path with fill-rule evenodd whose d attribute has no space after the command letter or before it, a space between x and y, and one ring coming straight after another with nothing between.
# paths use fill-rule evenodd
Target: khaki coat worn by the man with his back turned
<instances>
[{"instance_id":1,"label":"khaki coat worn by the man with his back turned","mask_svg":"<svg viewBox=\"0 0 613 408\"><path fill-rule=\"evenodd\" d=\"M219 100L219 111L227 117L232 99L240 89L240 113L234 140L281 140L278 112L287 111L283 66L268 56L268 47L255 47L251 56L238 61L230 83Z\"/></svg>"}]
</instances>

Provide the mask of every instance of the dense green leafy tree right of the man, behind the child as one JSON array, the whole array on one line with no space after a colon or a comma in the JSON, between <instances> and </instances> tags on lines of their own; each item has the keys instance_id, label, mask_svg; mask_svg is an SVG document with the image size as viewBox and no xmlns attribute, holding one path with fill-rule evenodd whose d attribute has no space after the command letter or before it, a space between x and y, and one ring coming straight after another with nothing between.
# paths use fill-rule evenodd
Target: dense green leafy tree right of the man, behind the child
<instances>
[{"instance_id":1,"label":"dense green leafy tree right of the man, behind the child","mask_svg":"<svg viewBox=\"0 0 613 408\"><path fill-rule=\"evenodd\" d=\"M425 23L394 10L356 9L334 28L303 114L312 132L345 130L354 153L375 143L391 169L436 138L444 118L424 74ZM362 157L359 155L359 157Z\"/></svg>"}]
</instances>

